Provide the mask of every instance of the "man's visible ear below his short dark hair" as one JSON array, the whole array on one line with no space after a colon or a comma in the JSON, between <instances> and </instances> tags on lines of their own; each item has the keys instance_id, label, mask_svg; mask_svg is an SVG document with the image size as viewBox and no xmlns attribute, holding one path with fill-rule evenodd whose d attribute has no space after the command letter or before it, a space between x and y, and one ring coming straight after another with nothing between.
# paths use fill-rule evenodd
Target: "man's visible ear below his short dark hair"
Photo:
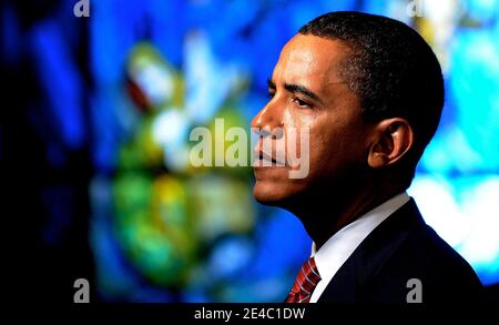
<instances>
[{"instance_id":1,"label":"man's visible ear below his short dark hair","mask_svg":"<svg viewBox=\"0 0 499 325\"><path fill-rule=\"evenodd\" d=\"M414 132L407 120L393 118L374 128L367 163L380 169L399 161L414 144Z\"/></svg>"}]
</instances>

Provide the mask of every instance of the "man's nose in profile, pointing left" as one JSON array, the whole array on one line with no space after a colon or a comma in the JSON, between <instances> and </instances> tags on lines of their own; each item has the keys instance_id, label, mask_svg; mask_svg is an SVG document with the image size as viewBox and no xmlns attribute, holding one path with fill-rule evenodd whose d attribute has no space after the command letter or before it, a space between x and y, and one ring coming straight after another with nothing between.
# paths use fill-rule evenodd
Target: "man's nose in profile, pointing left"
<instances>
[{"instance_id":1,"label":"man's nose in profile, pointing left","mask_svg":"<svg viewBox=\"0 0 499 325\"><path fill-rule=\"evenodd\" d=\"M253 118L252 128L262 138L282 136L283 109L275 98Z\"/></svg>"}]
</instances>

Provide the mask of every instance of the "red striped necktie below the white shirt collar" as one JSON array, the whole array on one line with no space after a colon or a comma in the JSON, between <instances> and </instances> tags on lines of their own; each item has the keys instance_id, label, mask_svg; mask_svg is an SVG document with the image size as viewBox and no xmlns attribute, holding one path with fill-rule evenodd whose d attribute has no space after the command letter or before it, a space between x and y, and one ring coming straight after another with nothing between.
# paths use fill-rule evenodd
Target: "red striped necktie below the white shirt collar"
<instances>
[{"instance_id":1,"label":"red striped necktie below the white shirt collar","mask_svg":"<svg viewBox=\"0 0 499 325\"><path fill-rule=\"evenodd\" d=\"M320 281L314 257L303 263L286 303L308 303L317 283Z\"/></svg>"}]
</instances>

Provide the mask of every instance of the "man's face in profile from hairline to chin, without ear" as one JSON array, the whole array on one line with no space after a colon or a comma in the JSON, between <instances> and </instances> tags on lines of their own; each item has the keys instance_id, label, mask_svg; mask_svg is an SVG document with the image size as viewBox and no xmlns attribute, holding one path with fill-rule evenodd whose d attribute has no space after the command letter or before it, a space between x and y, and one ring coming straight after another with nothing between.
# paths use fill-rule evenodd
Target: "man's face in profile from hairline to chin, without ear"
<instances>
[{"instance_id":1,"label":"man's face in profile from hairline to chin, without ear","mask_svg":"<svg viewBox=\"0 0 499 325\"><path fill-rule=\"evenodd\" d=\"M357 97L339 77L347 53L340 41L303 34L283 48L268 82L271 100L253 119L252 128L271 133L284 130L284 136L262 135L275 144L272 152L265 152L274 159L282 154L279 148L286 156L292 154L292 145L299 156L299 141L287 145L279 142L286 142L292 129L298 130L298 140L299 130L308 129L309 172L306 177L291 179L289 170L296 167L293 164L255 167L253 192L257 201L279 205L325 189L334 195L349 185L350 175L358 175L366 160L368 125L361 119ZM255 146L256 158L262 154L262 143L263 138Z\"/></svg>"}]
</instances>

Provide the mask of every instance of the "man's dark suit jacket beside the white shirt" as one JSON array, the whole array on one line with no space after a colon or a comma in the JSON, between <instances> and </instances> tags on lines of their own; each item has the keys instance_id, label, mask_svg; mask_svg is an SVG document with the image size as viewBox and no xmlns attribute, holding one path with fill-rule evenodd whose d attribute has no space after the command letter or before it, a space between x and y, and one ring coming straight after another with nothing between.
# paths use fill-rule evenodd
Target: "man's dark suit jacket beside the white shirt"
<instances>
[{"instance_id":1,"label":"man's dark suit jacket beside the white shirt","mask_svg":"<svg viewBox=\"0 0 499 325\"><path fill-rule=\"evenodd\" d=\"M410 278L420 281L422 303L483 296L473 270L424 222L413 199L361 242L318 302L406 303L415 288Z\"/></svg>"}]
</instances>

